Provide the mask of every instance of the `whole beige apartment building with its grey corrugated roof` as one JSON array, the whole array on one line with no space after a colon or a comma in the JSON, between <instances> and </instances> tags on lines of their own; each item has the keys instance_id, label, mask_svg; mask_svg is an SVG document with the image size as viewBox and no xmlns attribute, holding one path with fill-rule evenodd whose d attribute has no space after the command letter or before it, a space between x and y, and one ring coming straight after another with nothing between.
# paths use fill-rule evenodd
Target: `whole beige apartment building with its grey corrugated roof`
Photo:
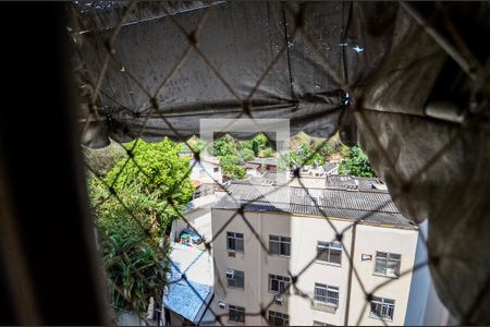
<instances>
[{"instance_id":1,"label":"whole beige apartment building with its grey corrugated roof","mask_svg":"<svg viewBox=\"0 0 490 327\"><path fill-rule=\"evenodd\" d=\"M404 325L420 239L385 190L228 191L211 209L212 308L224 324Z\"/></svg>"}]
</instances>

